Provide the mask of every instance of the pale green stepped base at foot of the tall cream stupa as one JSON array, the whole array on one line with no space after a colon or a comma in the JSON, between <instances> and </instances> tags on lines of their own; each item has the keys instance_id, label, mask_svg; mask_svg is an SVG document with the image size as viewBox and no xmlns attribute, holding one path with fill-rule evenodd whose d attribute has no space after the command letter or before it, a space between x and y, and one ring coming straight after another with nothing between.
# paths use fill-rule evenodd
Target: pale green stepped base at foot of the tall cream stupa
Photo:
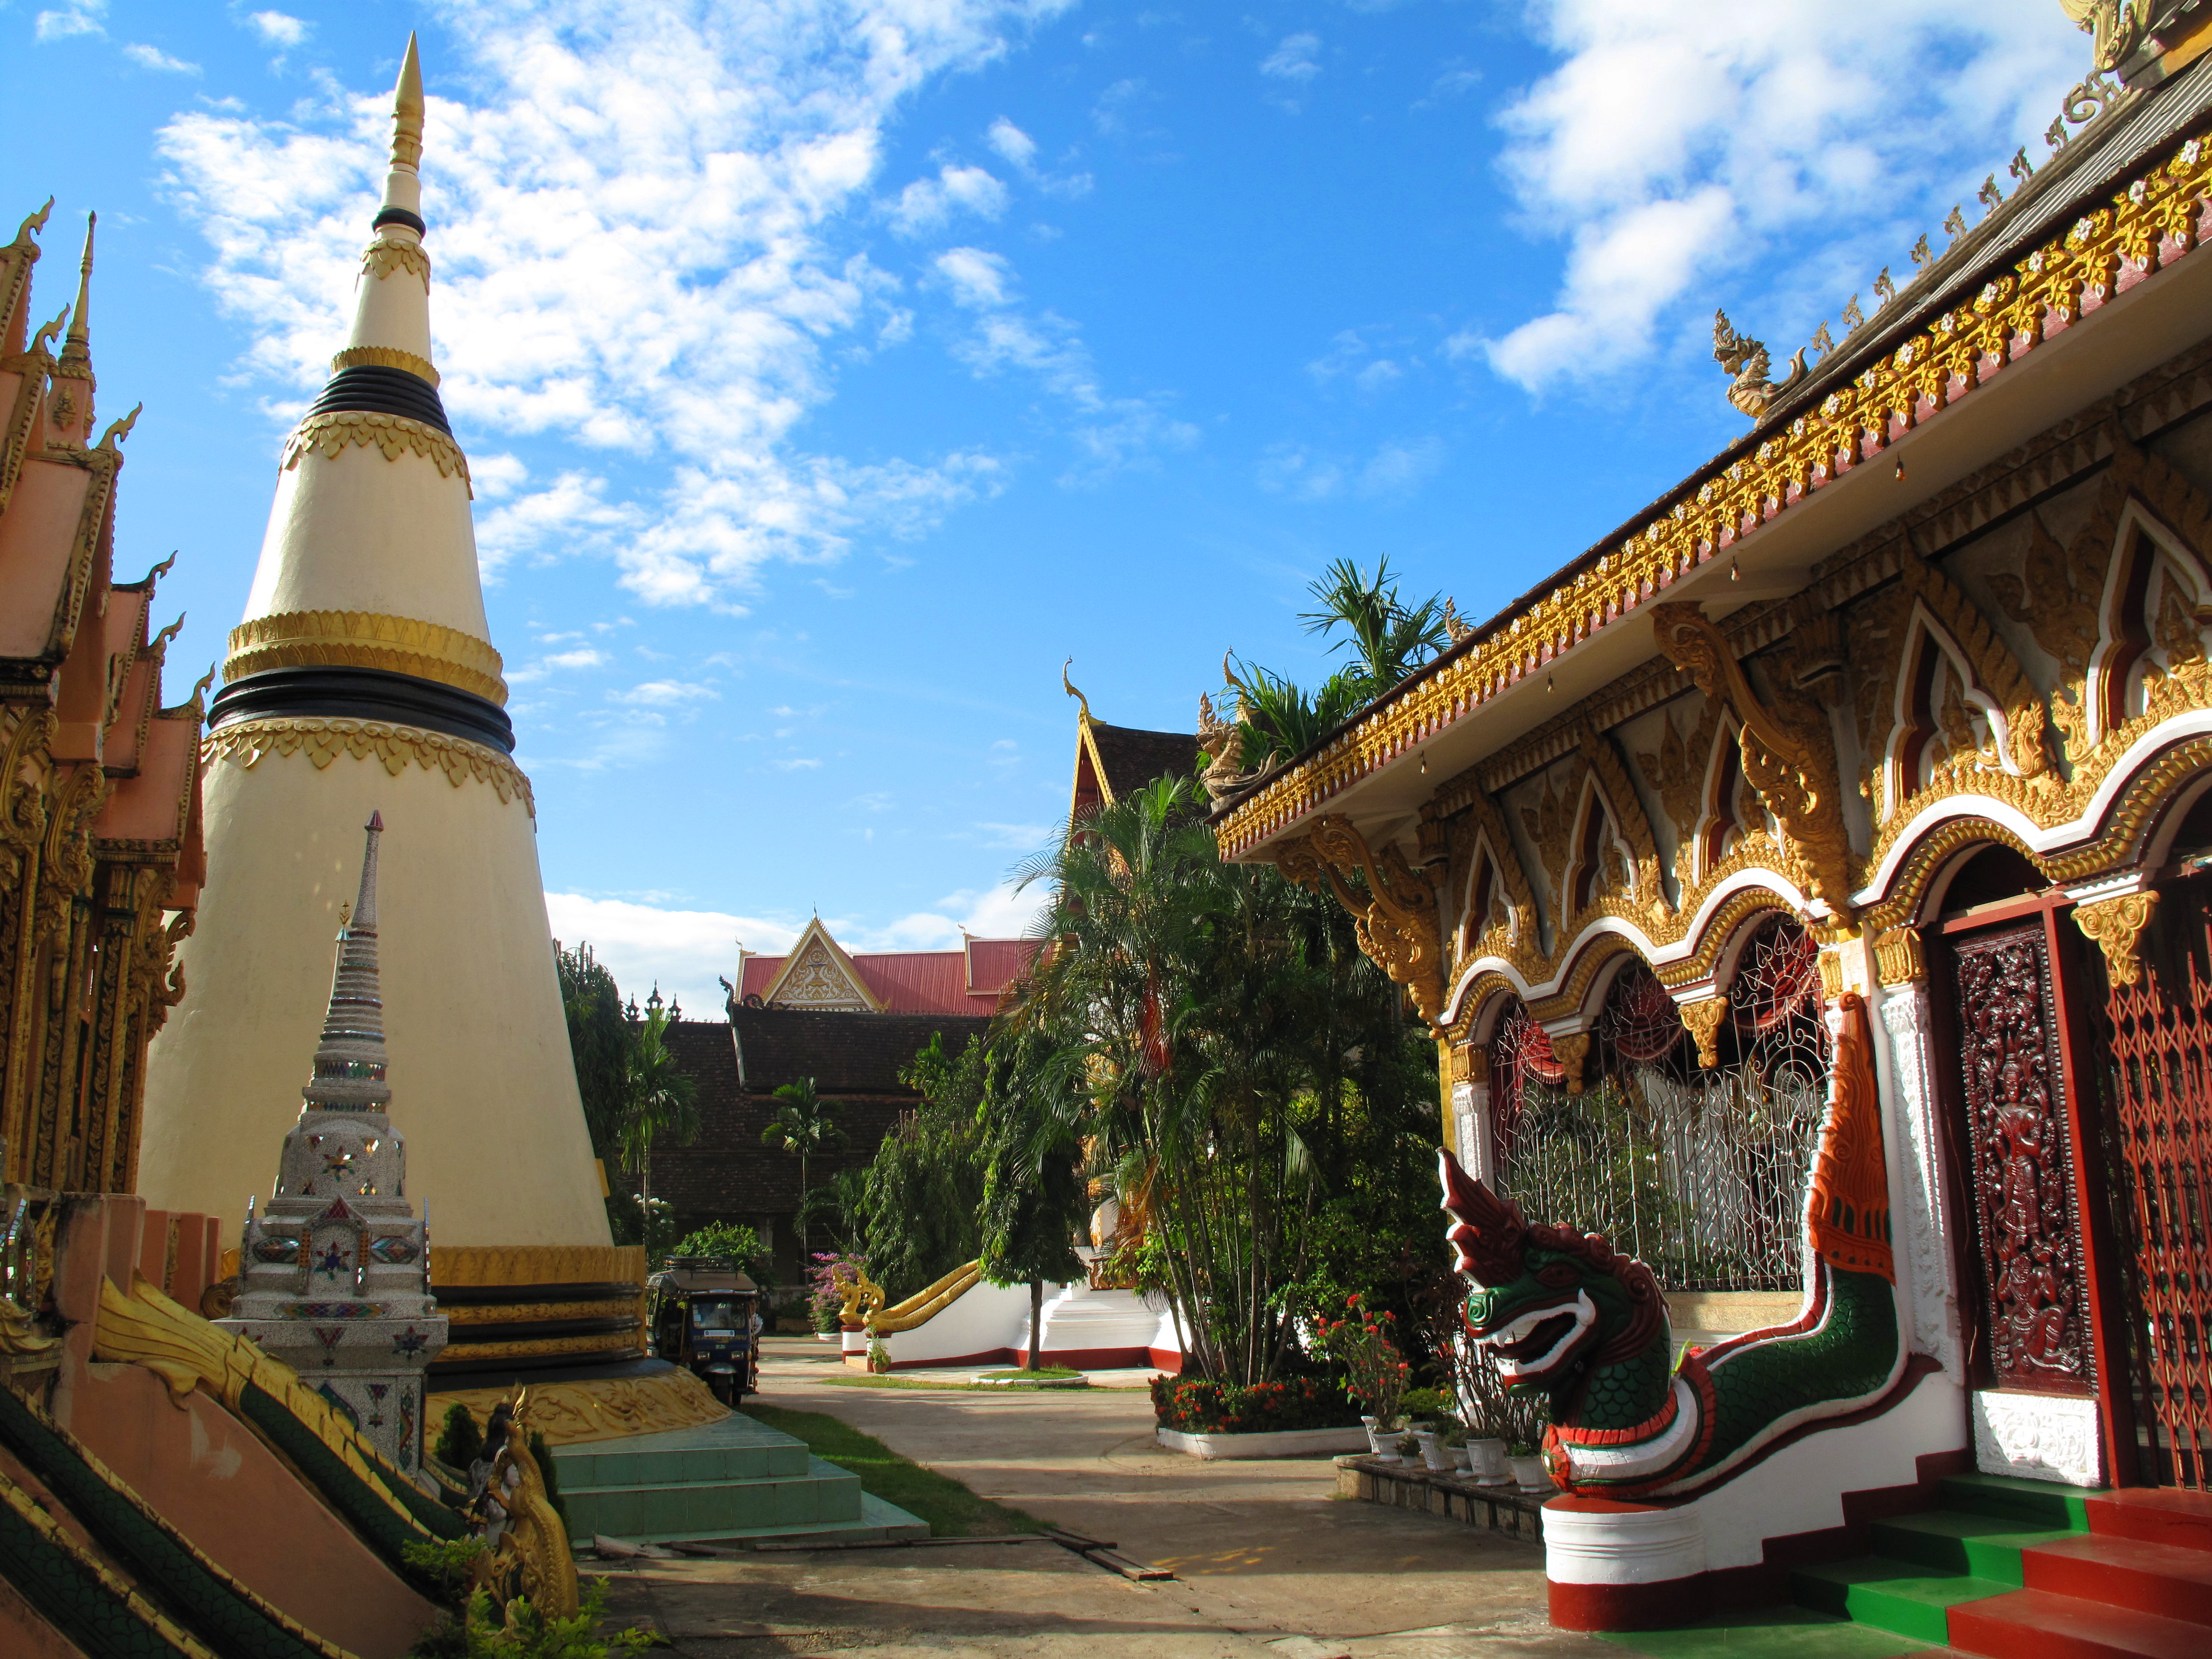
<instances>
[{"instance_id":1,"label":"pale green stepped base at foot of the tall cream stupa","mask_svg":"<svg viewBox=\"0 0 2212 1659\"><path fill-rule=\"evenodd\" d=\"M580 1544L929 1535L925 1522L863 1493L852 1471L748 1416L555 1447L553 1462Z\"/></svg>"}]
</instances>

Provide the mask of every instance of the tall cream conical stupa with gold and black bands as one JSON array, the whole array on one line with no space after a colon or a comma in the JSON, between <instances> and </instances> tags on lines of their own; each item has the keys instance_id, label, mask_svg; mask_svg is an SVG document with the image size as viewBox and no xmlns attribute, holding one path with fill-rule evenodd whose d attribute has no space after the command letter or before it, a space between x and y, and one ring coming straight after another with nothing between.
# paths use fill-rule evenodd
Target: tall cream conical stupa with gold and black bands
<instances>
[{"instance_id":1,"label":"tall cream conical stupa with gold and black bands","mask_svg":"<svg viewBox=\"0 0 2212 1659\"><path fill-rule=\"evenodd\" d=\"M354 836L380 807L385 1031L453 1321L434 1369L619 1369L644 1347L644 1256L608 1237L568 1057L469 460L438 396L420 157L409 49L352 334L283 445L208 710L208 885L179 949L192 998L148 1057L142 1190L223 1217L270 1199L239 1150L279 1144L299 1110Z\"/></svg>"}]
</instances>

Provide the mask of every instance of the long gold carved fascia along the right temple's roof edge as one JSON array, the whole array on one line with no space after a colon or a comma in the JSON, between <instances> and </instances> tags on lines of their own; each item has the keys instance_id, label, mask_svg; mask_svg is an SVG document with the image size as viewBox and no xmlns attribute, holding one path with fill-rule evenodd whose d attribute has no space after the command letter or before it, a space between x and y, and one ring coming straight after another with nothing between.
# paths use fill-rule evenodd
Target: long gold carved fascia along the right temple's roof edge
<instances>
[{"instance_id":1,"label":"long gold carved fascia along the right temple's roof edge","mask_svg":"<svg viewBox=\"0 0 2212 1659\"><path fill-rule=\"evenodd\" d=\"M1674 577L1725 555L1756 524L1787 513L1843 471L1869 465L1893 436L1971 396L1989 369L2037 345L2048 327L2073 323L2088 301L2110 299L2124 263L2148 274L2188 254L2197 246L2208 181L2212 144L2203 139L2181 142L2119 181L2110 206L2031 250L1973 301L1931 319L1816 409L1774 427L1754 453L1730 456L1686 482L1644 529L1579 562L1551 593L1520 606L1352 721L1318 754L1254 790L1217 830L1223 856L1237 858L1292 827L1354 781L1544 670L1559 653L1617 626Z\"/></svg>"}]
</instances>

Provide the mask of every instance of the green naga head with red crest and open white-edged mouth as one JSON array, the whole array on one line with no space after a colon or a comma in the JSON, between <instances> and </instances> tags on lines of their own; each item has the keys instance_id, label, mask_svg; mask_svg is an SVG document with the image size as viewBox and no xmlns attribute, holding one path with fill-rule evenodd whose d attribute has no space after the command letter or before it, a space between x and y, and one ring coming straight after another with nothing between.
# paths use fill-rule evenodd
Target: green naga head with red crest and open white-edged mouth
<instances>
[{"instance_id":1,"label":"green naga head with red crest and open white-edged mouth","mask_svg":"<svg viewBox=\"0 0 2212 1659\"><path fill-rule=\"evenodd\" d=\"M1564 1422L1595 1367L1666 1356L1666 1298L1650 1267L1595 1232L1531 1223L1451 1148L1438 1148L1438 1179L1453 1270L1469 1279L1467 1334L1506 1389L1551 1394L1553 1422Z\"/></svg>"}]
</instances>

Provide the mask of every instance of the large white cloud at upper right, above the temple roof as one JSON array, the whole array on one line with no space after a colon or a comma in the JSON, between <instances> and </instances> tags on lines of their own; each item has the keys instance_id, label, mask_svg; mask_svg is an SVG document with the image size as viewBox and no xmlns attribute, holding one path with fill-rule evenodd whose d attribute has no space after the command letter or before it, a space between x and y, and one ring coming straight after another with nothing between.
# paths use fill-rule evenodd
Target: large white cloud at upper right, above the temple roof
<instances>
[{"instance_id":1,"label":"large white cloud at upper right, above the temple roof","mask_svg":"<svg viewBox=\"0 0 2212 1659\"><path fill-rule=\"evenodd\" d=\"M1506 175L1568 243L1566 272L1548 314L1447 343L1531 389L1650 349L1666 307L1697 290L1701 316L1719 272L1785 237L1865 257L1869 276L1902 263L1949 201L1900 184L1971 201L2013 146L2044 153L2033 135L2088 66L2051 4L1537 0L1533 15L1562 62L1504 115Z\"/></svg>"}]
</instances>

